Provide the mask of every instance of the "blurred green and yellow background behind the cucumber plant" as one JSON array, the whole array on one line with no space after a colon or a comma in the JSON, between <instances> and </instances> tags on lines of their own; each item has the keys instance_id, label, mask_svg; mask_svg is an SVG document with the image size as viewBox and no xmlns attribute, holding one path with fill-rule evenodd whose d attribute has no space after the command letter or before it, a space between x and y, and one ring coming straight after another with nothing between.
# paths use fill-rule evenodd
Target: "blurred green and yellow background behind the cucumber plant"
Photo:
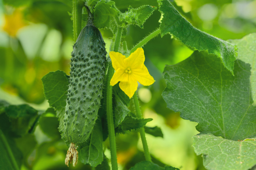
<instances>
[{"instance_id":1,"label":"blurred green and yellow background behind the cucumber plant","mask_svg":"<svg viewBox=\"0 0 256 170\"><path fill-rule=\"evenodd\" d=\"M193 26L218 38L240 39L256 32L256 0L175 0L177 9ZM131 5L158 6L156 0L116 0L120 11ZM0 0L0 99L11 104L28 103L38 110L49 105L44 98L41 78L50 71L63 70L69 74L73 29L69 13L71 0ZM161 14L154 11L144 24L144 29L127 28L128 48L159 26ZM107 52L112 33L100 30ZM179 113L166 108L161 93L165 82L162 71L166 64L176 64L189 57L193 50L180 44L171 35L156 37L144 46L149 73L156 82L139 86L141 110L145 118L153 118L148 126L159 126L164 138L146 134L149 151L159 165L170 165L181 170L203 170L202 157L196 156L191 146L192 136L198 132L196 123L180 118ZM43 113L43 112L42 112ZM57 118L52 123L58 126ZM27 154L22 159L22 170L68 169L64 164L66 144L57 134L47 136L37 126L34 135L20 144ZM56 130L56 129L55 129ZM20 143L20 140L17 139ZM136 132L117 135L117 153L120 169L129 169L144 160L142 144ZM105 154L110 158L108 140ZM30 147L29 149L24 146ZM78 162L69 169L91 169Z\"/></svg>"}]
</instances>

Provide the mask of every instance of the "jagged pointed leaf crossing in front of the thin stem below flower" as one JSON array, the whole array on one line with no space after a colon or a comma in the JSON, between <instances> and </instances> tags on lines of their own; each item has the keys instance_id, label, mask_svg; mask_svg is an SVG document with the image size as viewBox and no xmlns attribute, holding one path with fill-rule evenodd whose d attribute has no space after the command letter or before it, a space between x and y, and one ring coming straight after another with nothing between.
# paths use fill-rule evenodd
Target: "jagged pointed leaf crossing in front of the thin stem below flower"
<instances>
[{"instance_id":1,"label":"jagged pointed leaf crossing in front of the thin stem below flower","mask_svg":"<svg viewBox=\"0 0 256 170\"><path fill-rule=\"evenodd\" d=\"M130 115L127 115L124 118L124 121L117 126L115 129L116 133L125 133L127 130L136 130L146 125L147 122L152 121L153 119L137 119L133 118Z\"/></svg>"}]
</instances>

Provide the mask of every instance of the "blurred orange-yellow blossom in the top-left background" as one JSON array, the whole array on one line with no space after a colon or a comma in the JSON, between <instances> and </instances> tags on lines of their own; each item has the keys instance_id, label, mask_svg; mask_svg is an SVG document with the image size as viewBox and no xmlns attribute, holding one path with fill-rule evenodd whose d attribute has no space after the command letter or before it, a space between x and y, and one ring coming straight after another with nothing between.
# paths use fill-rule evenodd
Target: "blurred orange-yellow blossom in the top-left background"
<instances>
[{"instance_id":1,"label":"blurred orange-yellow blossom in the top-left background","mask_svg":"<svg viewBox=\"0 0 256 170\"><path fill-rule=\"evenodd\" d=\"M5 23L3 30L10 36L15 37L18 30L25 26L23 14L20 10L15 10L11 15L4 15Z\"/></svg>"}]
</instances>

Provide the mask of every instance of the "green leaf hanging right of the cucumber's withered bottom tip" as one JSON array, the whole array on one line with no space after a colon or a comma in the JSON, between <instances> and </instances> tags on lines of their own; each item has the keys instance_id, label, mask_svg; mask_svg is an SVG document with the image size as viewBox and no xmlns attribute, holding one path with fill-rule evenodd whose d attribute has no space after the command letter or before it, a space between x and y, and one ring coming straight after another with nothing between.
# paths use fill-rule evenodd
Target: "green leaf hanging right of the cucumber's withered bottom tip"
<instances>
[{"instance_id":1,"label":"green leaf hanging right of the cucumber's withered bottom tip","mask_svg":"<svg viewBox=\"0 0 256 170\"><path fill-rule=\"evenodd\" d=\"M103 161L103 139L100 119L93 127L90 140L80 144L78 150L79 160L92 167L100 165Z\"/></svg>"}]
</instances>

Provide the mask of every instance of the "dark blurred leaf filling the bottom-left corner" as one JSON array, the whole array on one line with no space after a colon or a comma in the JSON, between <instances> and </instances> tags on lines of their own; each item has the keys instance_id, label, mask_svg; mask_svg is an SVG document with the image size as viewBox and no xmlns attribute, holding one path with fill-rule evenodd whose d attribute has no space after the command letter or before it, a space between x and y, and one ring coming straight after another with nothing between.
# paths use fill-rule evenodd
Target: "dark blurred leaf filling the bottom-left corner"
<instances>
[{"instance_id":1,"label":"dark blurred leaf filling the bottom-left corner","mask_svg":"<svg viewBox=\"0 0 256 170\"><path fill-rule=\"evenodd\" d=\"M0 129L0 169L19 170L22 154L15 142Z\"/></svg>"}]
</instances>

